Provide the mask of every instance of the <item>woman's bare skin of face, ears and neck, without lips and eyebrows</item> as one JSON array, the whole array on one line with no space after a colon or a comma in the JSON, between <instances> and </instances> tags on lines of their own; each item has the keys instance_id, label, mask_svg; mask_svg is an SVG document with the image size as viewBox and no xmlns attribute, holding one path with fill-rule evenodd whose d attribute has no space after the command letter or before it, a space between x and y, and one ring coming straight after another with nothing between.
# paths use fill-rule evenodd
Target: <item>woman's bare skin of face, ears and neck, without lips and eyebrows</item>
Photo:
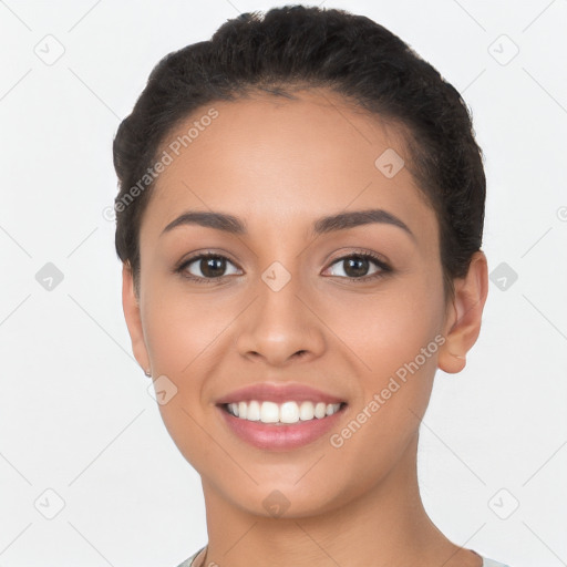
<instances>
[{"instance_id":1,"label":"woman's bare skin of face, ears and neck, without lips and eyebrows","mask_svg":"<svg viewBox=\"0 0 567 567\"><path fill-rule=\"evenodd\" d=\"M215 103L219 116L153 189L140 231L140 295L123 269L134 354L177 388L159 411L202 477L209 535L202 565L244 567L264 557L275 567L480 567L429 518L416 449L436 369L461 371L477 339L486 258L476 252L446 298L433 209L408 167L388 178L374 166L386 148L404 156L400 131L330 92L297 95ZM377 223L309 234L321 216L367 208L395 215L414 237ZM235 215L248 234L185 225L162 235L188 209ZM229 260L223 282L175 272L190 252L207 250ZM392 271L357 282L337 260L361 251L385 258ZM277 292L261 279L274 261L291 277ZM205 278L203 266L186 271ZM329 435L293 451L252 447L215 406L251 383L306 383L348 402L336 433L436 336L444 344L339 449ZM280 517L262 505L276 489L289 502Z\"/></svg>"}]
</instances>

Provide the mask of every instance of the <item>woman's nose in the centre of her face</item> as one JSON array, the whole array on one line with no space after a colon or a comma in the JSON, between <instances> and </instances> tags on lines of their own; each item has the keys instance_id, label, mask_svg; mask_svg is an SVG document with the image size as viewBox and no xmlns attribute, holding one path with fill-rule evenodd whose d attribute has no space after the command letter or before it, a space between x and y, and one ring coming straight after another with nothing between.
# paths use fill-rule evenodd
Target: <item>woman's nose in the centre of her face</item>
<instances>
[{"instance_id":1,"label":"woman's nose in the centre of her face","mask_svg":"<svg viewBox=\"0 0 567 567\"><path fill-rule=\"evenodd\" d=\"M279 290L264 280L258 282L256 299L238 318L236 347L240 355L284 367L293 360L313 360L324 352L324 324L309 293L299 288L299 278L295 277Z\"/></svg>"}]
</instances>

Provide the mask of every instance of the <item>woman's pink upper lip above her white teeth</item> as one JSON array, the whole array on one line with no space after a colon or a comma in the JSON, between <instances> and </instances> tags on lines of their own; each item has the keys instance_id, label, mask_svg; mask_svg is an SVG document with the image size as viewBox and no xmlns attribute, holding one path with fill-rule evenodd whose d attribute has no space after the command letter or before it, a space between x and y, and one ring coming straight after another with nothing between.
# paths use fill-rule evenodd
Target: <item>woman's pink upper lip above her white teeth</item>
<instances>
[{"instance_id":1,"label":"woman's pink upper lip above her white teeth","mask_svg":"<svg viewBox=\"0 0 567 567\"><path fill-rule=\"evenodd\" d=\"M257 400L259 402L284 403L295 402L324 402L341 403L344 400L330 393L300 383L275 384L271 382L259 382L234 390L219 398L217 404L246 402Z\"/></svg>"}]
</instances>

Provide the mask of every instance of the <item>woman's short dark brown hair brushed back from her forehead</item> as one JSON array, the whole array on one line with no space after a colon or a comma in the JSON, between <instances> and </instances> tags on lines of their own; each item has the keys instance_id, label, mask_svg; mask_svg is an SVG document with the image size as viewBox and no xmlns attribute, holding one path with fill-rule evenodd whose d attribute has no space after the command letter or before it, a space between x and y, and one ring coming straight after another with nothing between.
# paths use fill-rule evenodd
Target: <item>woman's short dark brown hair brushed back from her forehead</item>
<instances>
[{"instance_id":1,"label":"woman's short dark brown hair brushed back from her forehead","mask_svg":"<svg viewBox=\"0 0 567 567\"><path fill-rule=\"evenodd\" d=\"M148 188L140 190L140 179L166 136L214 101L260 92L292 97L290 92L309 87L327 87L399 125L405 166L436 214L445 291L453 291L453 278L466 275L481 248L486 193L482 150L465 102L382 25L344 10L303 6L243 13L209 41L172 52L153 69L113 144L120 186L115 246L135 282L141 219L154 185L146 179Z\"/></svg>"}]
</instances>

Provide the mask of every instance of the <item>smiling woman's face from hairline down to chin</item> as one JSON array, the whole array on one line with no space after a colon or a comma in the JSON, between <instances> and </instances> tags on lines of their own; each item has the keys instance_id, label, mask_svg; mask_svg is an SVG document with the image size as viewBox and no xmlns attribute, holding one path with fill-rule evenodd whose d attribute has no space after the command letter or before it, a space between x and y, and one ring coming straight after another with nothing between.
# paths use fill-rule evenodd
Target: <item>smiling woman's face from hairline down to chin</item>
<instances>
[{"instance_id":1,"label":"smiling woman's face from hairline down to chin","mask_svg":"<svg viewBox=\"0 0 567 567\"><path fill-rule=\"evenodd\" d=\"M141 225L138 302L124 277L134 352L206 491L256 515L270 498L318 514L411 466L454 323L437 221L378 116L316 91L212 106L186 150L167 148L200 114L162 148L173 162Z\"/></svg>"}]
</instances>

